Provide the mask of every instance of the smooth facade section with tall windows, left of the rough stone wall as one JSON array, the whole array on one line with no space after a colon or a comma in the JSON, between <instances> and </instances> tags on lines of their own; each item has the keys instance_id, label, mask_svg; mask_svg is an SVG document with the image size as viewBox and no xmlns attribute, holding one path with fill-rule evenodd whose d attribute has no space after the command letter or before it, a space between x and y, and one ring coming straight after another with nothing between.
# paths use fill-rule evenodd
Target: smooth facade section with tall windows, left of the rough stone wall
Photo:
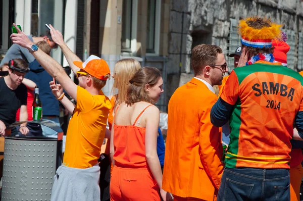
<instances>
[{"instance_id":1,"label":"smooth facade section with tall windows, left of the rough stone wall","mask_svg":"<svg viewBox=\"0 0 303 201\"><path fill-rule=\"evenodd\" d=\"M79 58L101 57L112 73L117 61L134 58L142 66L159 68L165 87L169 0L8 0L0 1L0 6L4 19L0 27L5 30L0 36L2 57L12 44L10 24L16 22L26 34L38 36L47 23L63 33ZM52 57L68 66L60 48L52 51ZM112 85L113 79L103 89L106 95L112 94ZM166 96L158 102L163 111L166 102Z\"/></svg>"}]
</instances>

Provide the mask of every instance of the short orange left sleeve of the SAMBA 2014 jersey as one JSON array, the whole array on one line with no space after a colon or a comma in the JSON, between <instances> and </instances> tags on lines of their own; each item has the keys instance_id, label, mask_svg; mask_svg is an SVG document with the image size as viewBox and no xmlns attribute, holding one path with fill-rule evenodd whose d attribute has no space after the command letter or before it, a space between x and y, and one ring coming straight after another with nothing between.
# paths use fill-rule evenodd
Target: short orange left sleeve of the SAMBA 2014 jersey
<instances>
[{"instance_id":1,"label":"short orange left sleeve of the SAMBA 2014 jersey","mask_svg":"<svg viewBox=\"0 0 303 201\"><path fill-rule=\"evenodd\" d=\"M229 105L235 105L239 97L239 81L236 73L231 72L227 79L220 97Z\"/></svg>"}]
</instances>

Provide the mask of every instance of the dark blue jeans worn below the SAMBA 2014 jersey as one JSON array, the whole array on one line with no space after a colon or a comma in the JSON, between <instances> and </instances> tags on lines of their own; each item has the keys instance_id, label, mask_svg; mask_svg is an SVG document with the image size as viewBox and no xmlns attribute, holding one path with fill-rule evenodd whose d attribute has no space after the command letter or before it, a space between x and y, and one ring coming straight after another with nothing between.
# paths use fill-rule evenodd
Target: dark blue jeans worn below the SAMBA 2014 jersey
<instances>
[{"instance_id":1,"label":"dark blue jeans worn below the SAMBA 2014 jersey","mask_svg":"<svg viewBox=\"0 0 303 201\"><path fill-rule=\"evenodd\" d=\"M288 169L225 168L219 200L290 200Z\"/></svg>"}]
</instances>

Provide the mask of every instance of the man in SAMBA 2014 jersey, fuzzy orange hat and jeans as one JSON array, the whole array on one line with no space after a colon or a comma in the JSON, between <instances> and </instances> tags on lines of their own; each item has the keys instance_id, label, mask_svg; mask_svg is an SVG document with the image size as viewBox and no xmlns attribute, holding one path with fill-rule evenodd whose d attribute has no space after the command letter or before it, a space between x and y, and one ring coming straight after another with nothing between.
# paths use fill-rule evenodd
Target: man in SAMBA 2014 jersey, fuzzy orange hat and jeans
<instances>
[{"instance_id":1,"label":"man in SAMBA 2014 jersey, fuzzy orange hat and jeans","mask_svg":"<svg viewBox=\"0 0 303 201\"><path fill-rule=\"evenodd\" d=\"M274 62L280 27L259 17L239 23L239 65L211 110L215 126L229 120L231 128L218 200L290 200L290 139L303 137L303 78Z\"/></svg>"}]
</instances>

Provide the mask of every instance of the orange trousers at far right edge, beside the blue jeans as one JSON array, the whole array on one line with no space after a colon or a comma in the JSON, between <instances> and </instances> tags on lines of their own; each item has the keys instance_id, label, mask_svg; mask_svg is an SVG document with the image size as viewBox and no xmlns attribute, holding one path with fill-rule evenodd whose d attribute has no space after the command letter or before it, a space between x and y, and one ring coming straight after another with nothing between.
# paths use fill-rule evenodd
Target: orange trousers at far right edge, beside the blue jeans
<instances>
[{"instance_id":1,"label":"orange trousers at far right edge, beside the blue jeans","mask_svg":"<svg viewBox=\"0 0 303 201\"><path fill-rule=\"evenodd\" d=\"M290 201L300 200L300 185L303 177L302 165L299 164L289 169L290 175Z\"/></svg>"}]
</instances>

